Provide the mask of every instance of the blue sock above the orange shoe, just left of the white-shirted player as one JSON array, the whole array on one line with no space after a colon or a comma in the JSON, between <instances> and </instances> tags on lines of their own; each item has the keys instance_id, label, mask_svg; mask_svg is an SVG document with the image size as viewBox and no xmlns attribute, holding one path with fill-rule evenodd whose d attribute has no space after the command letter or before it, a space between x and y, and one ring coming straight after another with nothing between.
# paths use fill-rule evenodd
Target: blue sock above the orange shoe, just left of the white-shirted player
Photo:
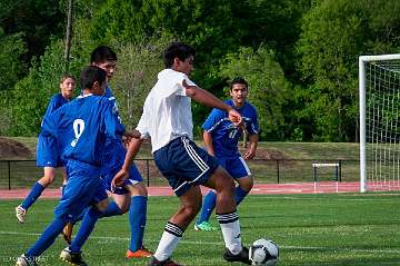
<instances>
[{"instance_id":1,"label":"blue sock above the orange shoe, just left of the white-shirted player","mask_svg":"<svg viewBox=\"0 0 400 266\"><path fill-rule=\"evenodd\" d=\"M131 198L129 208L129 224L131 229L131 240L129 249L136 252L143 246L143 235L147 220L147 197L134 196Z\"/></svg>"}]
</instances>

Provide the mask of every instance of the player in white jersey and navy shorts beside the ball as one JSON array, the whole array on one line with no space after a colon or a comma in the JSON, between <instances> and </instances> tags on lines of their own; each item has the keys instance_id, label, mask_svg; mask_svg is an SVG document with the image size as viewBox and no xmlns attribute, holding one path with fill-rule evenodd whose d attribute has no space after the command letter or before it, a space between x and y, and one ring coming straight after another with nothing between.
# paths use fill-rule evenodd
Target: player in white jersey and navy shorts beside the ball
<instances>
[{"instance_id":1,"label":"player in white jersey and navy shorts beside the ball","mask_svg":"<svg viewBox=\"0 0 400 266\"><path fill-rule=\"evenodd\" d=\"M170 257L183 231L201 208L199 185L216 189L217 219L220 223L228 262L250 264L248 249L241 244L239 216L234 204L234 183L214 157L193 141L191 99L224 110L236 126L242 119L231 106L196 86L189 78L193 70L194 50L184 43L172 43L164 51L166 69L148 95L137 126L141 139L132 139L124 165L113 179L123 184L129 167L144 138L151 138L152 154L159 170L168 179L181 206L172 215L158 248L148 265L179 266Z\"/></svg>"}]
</instances>

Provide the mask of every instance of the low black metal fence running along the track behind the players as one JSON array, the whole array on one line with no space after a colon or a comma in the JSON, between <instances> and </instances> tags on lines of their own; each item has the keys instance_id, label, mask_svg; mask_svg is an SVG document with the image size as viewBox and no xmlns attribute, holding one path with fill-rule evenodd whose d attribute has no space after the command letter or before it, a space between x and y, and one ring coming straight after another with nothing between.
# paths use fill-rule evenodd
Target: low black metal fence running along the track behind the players
<instances>
[{"instance_id":1,"label":"low black metal fence running along the track behind the players","mask_svg":"<svg viewBox=\"0 0 400 266\"><path fill-rule=\"evenodd\" d=\"M359 180L359 160L253 159L247 162L258 184ZM153 159L136 159L134 164L148 186L168 185ZM327 166L316 169L313 164ZM43 169L37 167L34 160L0 160L0 189L28 188L42 176ZM56 181L50 187L60 187L61 179L58 173Z\"/></svg>"}]
</instances>

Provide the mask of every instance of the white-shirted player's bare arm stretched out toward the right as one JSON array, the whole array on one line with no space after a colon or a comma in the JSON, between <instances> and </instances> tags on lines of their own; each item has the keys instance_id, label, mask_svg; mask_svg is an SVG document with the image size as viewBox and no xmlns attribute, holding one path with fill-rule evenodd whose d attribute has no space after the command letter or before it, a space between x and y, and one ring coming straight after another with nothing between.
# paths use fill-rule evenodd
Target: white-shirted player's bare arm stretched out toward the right
<instances>
[{"instance_id":1,"label":"white-shirted player's bare arm stretched out toward the right","mask_svg":"<svg viewBox=\"0 0 400 266\"><path fill-rule=\"evenodd\" d=\"M206 106L218 108L228 112L229 119L236 126L240 126L242 124L242 117L240 114L231 106L218 99L214 95L197 86L189 86L186 80L182 81L182 86L184 87L188 97Z\"/></svg>"}]
</instances>

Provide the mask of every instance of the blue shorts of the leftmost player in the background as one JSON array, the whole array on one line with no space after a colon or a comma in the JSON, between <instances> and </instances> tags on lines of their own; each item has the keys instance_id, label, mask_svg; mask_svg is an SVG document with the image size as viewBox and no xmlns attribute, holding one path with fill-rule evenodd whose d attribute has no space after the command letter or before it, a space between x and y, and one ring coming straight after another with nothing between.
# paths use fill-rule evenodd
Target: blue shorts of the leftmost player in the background
<instances>
[{"instance_id":1,"label":"blue shorts of the leftmost player in the background","mask_svg":"<svg viewBox=\"0 0 400 266\"><path fill-rule=\"evenodd\" d=\"M59 156L59 146L56 138L39 135L37 145L37 166L54 168L64 166Z\"/></svg>"}]
</instances>

